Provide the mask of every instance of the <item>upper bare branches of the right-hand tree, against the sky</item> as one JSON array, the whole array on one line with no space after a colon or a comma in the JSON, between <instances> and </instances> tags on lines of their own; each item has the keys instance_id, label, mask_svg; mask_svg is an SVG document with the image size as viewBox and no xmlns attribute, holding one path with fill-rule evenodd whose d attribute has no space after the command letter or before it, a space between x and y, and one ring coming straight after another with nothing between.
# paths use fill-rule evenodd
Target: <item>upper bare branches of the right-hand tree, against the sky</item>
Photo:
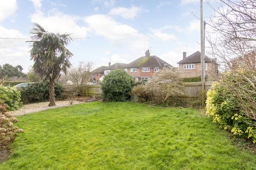
<instances>
[{"instance_id":1,"label":"upper bare branches of the right-hand tree, against the sky","mask_svg":"<svg viewBox=\"0 0 256 170\"><path fill-rule=\"evenodd\" d=\"M243 66L251 66L245 55L255 50L256 1L220 0L209 25L212 31L207 39L212 47L211 55L218 57L222 65L232 69L233 60L239 58ZM244 59L244 60L243 60Z\"/></svg>"}]
</instances>

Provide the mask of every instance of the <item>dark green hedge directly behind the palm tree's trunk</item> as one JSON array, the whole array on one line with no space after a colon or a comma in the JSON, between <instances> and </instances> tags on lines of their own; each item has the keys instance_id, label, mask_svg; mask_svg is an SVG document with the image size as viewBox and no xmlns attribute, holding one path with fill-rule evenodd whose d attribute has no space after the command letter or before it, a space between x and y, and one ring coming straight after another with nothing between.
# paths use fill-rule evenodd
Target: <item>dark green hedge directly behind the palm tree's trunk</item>
<instances>
[{"instance_id":1,"label":"dark green hedge directly behind the palm tree's trunk","mask_svg":"<svg viewBox=\"0 0 256 170\"><path fill-rule=\"evenodd\" d=\"M62 98L62 93L64 92L64 88L55 83L55 97L60 99ZM21 88L21 101L23 103L35 103L41 101L49 100L49 81L37 82L33 84L29 84L26 88Z\"/></svg>"}]
</instances>

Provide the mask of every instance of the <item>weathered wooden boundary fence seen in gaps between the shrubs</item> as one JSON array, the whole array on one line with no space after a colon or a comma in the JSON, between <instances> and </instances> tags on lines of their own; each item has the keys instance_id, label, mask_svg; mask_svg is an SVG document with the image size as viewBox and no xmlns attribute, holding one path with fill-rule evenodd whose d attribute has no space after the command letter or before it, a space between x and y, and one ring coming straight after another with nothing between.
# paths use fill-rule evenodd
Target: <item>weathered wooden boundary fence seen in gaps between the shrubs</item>
<instances>
[{"instance_id":1,"label":"weathered wooden boundary fence seen in gaps between the shrubs","mask_svg":"<svg viewBox=\"0 0 256 170\"><path fill-rule=\"evenodd\" d=\"M207 92L211 86L212 81L206 81L204 90ZM199 97L202 93L202 83L201 82L186 82L184 84L184 95L181 97L187 97L187 98L196 98ZM66 86L67 89L74 89L74 86ZM97 85L87 85L83 87L83 96L94 96L94 97L100 97L101 96L101 86L100 84Z\"/></svg>"}]
</instances>

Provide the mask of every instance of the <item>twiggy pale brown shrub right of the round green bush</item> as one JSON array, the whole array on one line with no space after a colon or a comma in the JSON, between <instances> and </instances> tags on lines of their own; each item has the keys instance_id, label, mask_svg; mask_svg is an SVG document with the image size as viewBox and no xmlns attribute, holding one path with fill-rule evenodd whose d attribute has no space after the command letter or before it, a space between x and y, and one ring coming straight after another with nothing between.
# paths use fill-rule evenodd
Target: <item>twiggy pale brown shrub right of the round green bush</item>
<instances>
[{"instance_id":1,"label":"twiggy pale brown shrub right of the round green bush","mask_svg":"<svg viewBox=\"0 0 256 170\"><path fill-rule=\"evenodd\" d=\"M150 103L165 105L183 94L183 85L177 69L164 68L155 73L144 84L132 89L133 99L150 101Z\"/></svg>"}]
</instances>

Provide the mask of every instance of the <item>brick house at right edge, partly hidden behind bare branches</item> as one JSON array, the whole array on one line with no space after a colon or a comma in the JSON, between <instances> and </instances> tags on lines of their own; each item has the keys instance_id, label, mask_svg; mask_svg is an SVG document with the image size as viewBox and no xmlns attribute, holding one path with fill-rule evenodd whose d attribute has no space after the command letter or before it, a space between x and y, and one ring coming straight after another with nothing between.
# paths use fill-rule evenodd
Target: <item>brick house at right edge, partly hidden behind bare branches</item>
<instances>
[{"instance_id":1,"label":"brick house at right edge, partly hidden behind bare branches","mask_svg":"<svg viewBox=\"0 0 256 170\"><path fill-rule=\"evenodd\" d=\"M235 69L236 67L256 69L256 53L250 52L244 56L236 57L231 60L231 68Z\"/></svg>"}]
</instances>

